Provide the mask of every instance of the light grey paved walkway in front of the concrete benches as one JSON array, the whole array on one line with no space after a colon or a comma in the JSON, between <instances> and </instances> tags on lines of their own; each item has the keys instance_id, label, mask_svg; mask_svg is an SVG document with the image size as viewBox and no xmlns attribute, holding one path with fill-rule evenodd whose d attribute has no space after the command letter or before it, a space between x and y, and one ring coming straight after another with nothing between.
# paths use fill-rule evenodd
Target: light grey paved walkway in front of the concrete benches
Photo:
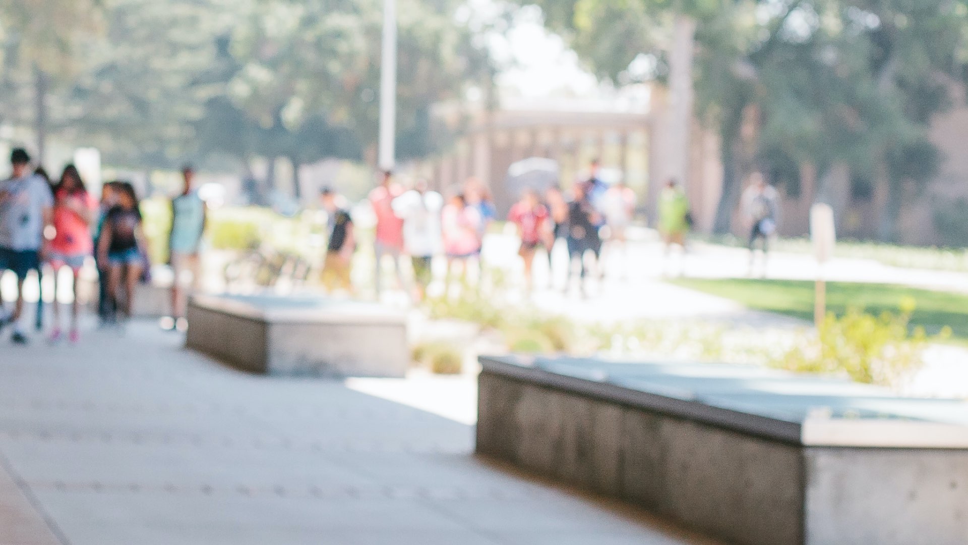
<instances>
[{"instance_id":1,"label":"light grey paved walkway in front of the concrete benches","mask_svg":"<svg viewBox=\"0 0 968 545\"><path fill-rule=\"evenodd\" d=\"M0 545L710 543L472 456L467 379L258 377L148 323L5 337Z\"/></svg>"}]
</instances>

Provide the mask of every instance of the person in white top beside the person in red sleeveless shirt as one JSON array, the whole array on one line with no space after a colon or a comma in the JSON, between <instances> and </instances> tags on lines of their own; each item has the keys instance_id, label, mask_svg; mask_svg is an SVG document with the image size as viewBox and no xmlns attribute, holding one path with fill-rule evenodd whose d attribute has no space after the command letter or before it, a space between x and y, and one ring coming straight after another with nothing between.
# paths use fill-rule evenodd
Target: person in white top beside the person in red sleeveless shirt
<instances>
[{"instance_id":1,"label":"person in white top beside the person in red sleeveless shirt","mask_svg":"<svg viewBox=\"0 0 968 545\"><path fill-rule=\"evenodd\" d=\"M413 297L423 301L434 279L433 261L441 246L440 211L443 197L420 179L413 189L393 201L393 210L404 220L404 247L413 266Z\"/></svg>"}]
</instances>

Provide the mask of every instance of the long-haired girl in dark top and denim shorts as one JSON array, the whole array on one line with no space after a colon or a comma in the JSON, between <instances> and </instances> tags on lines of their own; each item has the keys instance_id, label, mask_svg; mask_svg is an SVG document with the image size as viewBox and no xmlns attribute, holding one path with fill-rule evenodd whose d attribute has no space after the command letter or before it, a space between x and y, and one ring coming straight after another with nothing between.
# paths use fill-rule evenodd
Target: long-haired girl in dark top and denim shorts
<instances>
[{"instance_id":1,"label":"long-haired girl in dark top and denim shorts","mask_svg":"<svg viewBox=\"0 0 968 545\"><path fill-rule=\"evenodd\" d=\"M142 255L148 253L141 225L135 187L127 181L114 183L117 205L108 210L101 229L98 254L102 273L107 274L107 297L112 308L120 310L122 319L131 318L135 286L144 272ZM119 303L118 292L124 289ZM115 321L113 315L109 321Z\"/></svg>"}]
</instances>

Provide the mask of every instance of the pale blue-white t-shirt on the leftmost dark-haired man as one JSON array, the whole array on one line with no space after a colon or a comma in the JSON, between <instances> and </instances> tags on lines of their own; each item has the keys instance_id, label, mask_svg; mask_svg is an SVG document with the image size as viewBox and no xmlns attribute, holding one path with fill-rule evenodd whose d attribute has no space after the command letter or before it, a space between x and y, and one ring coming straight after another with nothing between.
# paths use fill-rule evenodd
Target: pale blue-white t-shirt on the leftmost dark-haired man
<instances>
[{"instance_id":1,"label":"pale blue-white t-shirt on the leftmost dark-haired man","mask_svg":"<svg viewBox=\"0 0 968 545\"><path fill-rule=\"evenodd\" d=\"M0 183L0 248L39 250L44 243L44 210L53 207L50 186L41 176Z\"/></svg>"}]
</instances>

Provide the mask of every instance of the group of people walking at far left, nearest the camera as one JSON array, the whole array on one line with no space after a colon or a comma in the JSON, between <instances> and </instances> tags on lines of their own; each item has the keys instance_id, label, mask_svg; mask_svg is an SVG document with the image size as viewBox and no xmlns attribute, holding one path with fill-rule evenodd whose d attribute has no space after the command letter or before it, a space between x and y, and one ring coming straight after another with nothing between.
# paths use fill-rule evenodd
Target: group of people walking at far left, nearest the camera
<instances>
[{"instance_id":1,"label":"group of people walking at far left, nearest the camera","mask_svg":"<svg viewBox=\"0 0 968 545\"><path fill-rule=\"evenodd\" d=\"M52 272L54 286L48 339L77 342L77 284L89 262L96 266L99 276L98 314L102 323L120 324L130 318L136 284L150 274L148 240L134 185L123 180L107 182L101 187L99 202L74 165L67 165L59 178L50 180L43 168L32 168L25 149L15 148L11 167L12 176L0 182L0 273L14 272L16 299L10 309L0 298L0 330L9 326L13 342L28 341L23 326L24 281L31 271L40 277L46 267ZM204 204L192 191L194 173L186 168L183 174L184 191L172 200L169 239L175 270L172 313L181 318L184 304L179 275L197 264L204 228ZM66 329L57 297L65 287L59 282L64 269L70 271L71 283L66 287L74 294ZM38 312L43 310L39 307Z\"/></svg>"}]
</instances>

